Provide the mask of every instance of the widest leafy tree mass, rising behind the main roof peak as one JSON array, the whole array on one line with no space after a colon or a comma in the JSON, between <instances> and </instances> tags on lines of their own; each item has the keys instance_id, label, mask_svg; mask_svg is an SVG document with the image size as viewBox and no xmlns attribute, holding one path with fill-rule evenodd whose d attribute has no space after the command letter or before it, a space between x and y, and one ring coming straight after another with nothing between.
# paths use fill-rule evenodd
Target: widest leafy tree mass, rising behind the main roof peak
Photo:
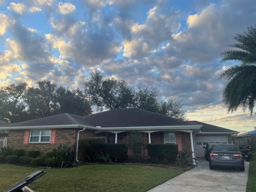
<instances>
[{"instance_id":1,"label":"widest leafy tree mass, rising behind the main roof peak","mask_svg":"<svg viewBox=\"0 0 256 192\"><path fill-rule=\"evenodd\" d=\"M84 84L84 92L97 110L103 107L116 108L141 108L155 113L160 113L174 118L186 119L180 102L172 100L159 100L159 91L148 88L142 84L136 89L128 86L124 80L103 78L100 72L93 72Z\"/></svg>"}]
</instances>

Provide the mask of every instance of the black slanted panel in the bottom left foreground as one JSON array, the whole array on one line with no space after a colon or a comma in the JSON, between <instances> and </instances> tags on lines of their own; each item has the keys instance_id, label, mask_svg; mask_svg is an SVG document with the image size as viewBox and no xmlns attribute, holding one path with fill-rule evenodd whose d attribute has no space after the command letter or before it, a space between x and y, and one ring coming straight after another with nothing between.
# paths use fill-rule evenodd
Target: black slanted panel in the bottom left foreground
<instances>
[{"instance_id":1,"label":"black slanted panel in the bottom left foreground","mask_svg":"<svg viewBox=\"0 0 256 192\"><path fill-rule=\"evenodd\" d=\"M23 192L22 188L24 186L30 184L34 180L36 180L36 179L40 178L41 176L43 176L44 174L46 174L45 171L36 171L36 172L30 174L29 176L26 176L20 182L14 184L13 186L8 188L4 192Z\"/></svg>"}]
</instances>

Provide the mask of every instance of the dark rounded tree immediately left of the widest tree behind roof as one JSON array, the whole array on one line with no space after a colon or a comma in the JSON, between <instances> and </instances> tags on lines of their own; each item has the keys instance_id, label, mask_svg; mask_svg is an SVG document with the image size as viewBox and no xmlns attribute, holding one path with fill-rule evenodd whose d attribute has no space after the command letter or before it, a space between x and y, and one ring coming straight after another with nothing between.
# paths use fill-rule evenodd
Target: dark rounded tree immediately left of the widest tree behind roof
<instances>
[{"instance_id":1,"label":"dark rounded tree immediately left of the widest tree behind roof","mask_svg":"<svg viewBox=\"0 0 256 192\"><path fill-rule=\"evenodd\" d=\"M56 101L59 104L59 110L56 110L56 114L70 113L86 116L92 113L90 103L79 88L69 91L62 86L58 87Z\"/></svg>"}]
</instances>

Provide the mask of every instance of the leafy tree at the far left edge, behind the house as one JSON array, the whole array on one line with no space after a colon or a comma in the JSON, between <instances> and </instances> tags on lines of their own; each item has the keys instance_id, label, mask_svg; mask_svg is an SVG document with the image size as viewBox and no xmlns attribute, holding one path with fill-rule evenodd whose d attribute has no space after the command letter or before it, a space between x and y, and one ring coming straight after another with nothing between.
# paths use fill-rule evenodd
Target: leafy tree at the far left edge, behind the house
<instances>
[{"instance_id":1,"label":"leafy tree at the far left edge, behind the house","mask_svg":"<svg viewBox=\"0 0 256 192\"><path fill-rule=\"evenodd\" d=\"M26 112L25 82L3 86L0 88L0 118L11 123L28 120Z\"/></svg>"}]
</instances>

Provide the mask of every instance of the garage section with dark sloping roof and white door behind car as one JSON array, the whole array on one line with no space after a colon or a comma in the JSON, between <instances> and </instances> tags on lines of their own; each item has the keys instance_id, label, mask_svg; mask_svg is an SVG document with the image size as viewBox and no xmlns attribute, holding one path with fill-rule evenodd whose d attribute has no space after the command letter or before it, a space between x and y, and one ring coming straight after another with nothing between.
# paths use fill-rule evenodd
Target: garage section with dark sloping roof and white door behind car
<instances>
[{"instance_id":1,"label":"garage section with dark sloping roof and white door behind car","mask_svg":"<svg viewBox=\"0 0 256 192\"><path fill-rule=\"evenodd\" d=\"M232 143L231 136L239 133L237 131L199 121L189 122L202 125L200 132L194 134L197 157L204 157L203 147L206 146L207 143Z\"/></svg>"}]
</instances>

